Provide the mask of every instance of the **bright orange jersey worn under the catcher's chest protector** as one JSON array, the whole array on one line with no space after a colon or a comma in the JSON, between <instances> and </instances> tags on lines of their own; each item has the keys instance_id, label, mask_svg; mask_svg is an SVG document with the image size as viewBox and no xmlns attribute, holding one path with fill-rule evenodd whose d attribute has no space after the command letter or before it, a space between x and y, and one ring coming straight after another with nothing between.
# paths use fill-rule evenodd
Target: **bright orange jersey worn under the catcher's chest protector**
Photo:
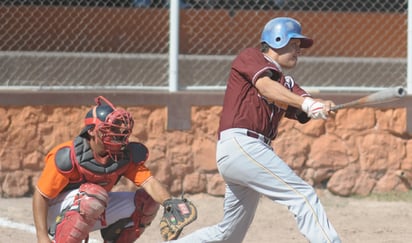
<instances>
[{"instance_id":1,"label":"bright orange jersey worn under the catcher's chest protector","mask_svg":"<svg viewBox=\"0 0 412 243\"><path fill-rule=\"evenodd\" d=\"M74 141L67 141L65 143L62 143L56 146L55 148L53 148L46 155L45 167L37 182L37 188L43 196L49 199L52 199L52 198L55 198L57 195L59 195L59 193L61 193L65 189L70 188L71 184L76 186L76 183L79 184L79 183L83 183L86 181L94 183L93 177L86 175L86 174L93 175L93 172L83 168L82 161L79 159L76 159L76 148L78 147L79 143L80 144L82 143L81 140L82 138L77 137ZM131 154L129 156L130 158L128 157L127 161L122 161L124 165L122 165L122 167L118 169L119 172L117 174L116 174L116 170L113 170L112 174L115 173L114 176L116 177L115 178L116 182L118 178L120 178L121 176L125 176L129 180L133 181L137 186L140 186L143 182L145 182L148 178L152 176L152 173L150 172L150 170L144 165L144 162L147 159L147 155L146 154L142 155L142 152L145 152L145 151L147 152L147 149L142 144L131 143L131 145L133 146L129 146L130 150L136 150L137 145L140 146L140 148L144 148L145 150L137 151L137 152L129 151ZM85 146L88 146L88 145L86 144ZM62 151L67 151L68 152L67 156L62 156L61 154L66 155L62 153ZM77 151L77 153L79 152ZM141 160L142 156L144 158L143 160ZM62 160L71 161L73 166L67 169L68 163L66 163L65 166L62 166L62 162L61 162ZM101 167L101 168L104 168L104 167ZM104 174L101 174L101 175L98 175L97 173L95 174L96 174L96 177L100 176L104 178ZM108 185L106 189L111 190L114 184L115 182Z\"/></svg>"}]
</instances>

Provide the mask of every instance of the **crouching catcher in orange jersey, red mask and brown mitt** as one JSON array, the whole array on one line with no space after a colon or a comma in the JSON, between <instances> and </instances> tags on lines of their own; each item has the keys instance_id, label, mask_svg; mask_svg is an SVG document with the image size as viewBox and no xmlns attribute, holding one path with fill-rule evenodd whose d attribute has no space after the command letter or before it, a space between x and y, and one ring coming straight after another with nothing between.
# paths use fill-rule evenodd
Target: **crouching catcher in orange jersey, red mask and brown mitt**
<instances>
[{"instance_id":1,"label":"crouching catcher in orange jersey, red mask and brown mitt","mask_svg":"<svg viewBox=\"0 0 412 243\"><path fill-rule=\"evenodd\" d=\"M104 102L105 104L103 104ZM52 149L33 195L37 242L87 242L101 232L105 242L134 242L164 207L162 236L176 239L196 219L188 200L172 198L144 165L148 149L129 142L134 121L102 96L85 117L85 127L71 141ZM135 192L111 192L124 176Z\"/></svg>"}]
</instances>

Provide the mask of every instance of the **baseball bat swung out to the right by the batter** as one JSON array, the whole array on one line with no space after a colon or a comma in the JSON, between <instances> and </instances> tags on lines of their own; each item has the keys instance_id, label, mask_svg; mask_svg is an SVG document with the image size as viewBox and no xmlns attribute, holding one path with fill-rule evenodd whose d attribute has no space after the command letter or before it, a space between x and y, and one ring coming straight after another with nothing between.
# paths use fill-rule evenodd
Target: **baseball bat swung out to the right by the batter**
<instances>
[{"instance_id":1,"label":"baseball bat swung out to the right by the batter","mask_svg":"<svg viewBox=\"0 0 412 243\"><path fill-rule=\"evenodd\" d=\"M364 96L357 100L353 100L353 101L343 103L343 104L338 104L336 106L331 107L331 110L337 111L337 110L344 109L344 108L368 106L368 105L374 105L374 104L379 104L379 103L391 102L393 100L400 99L405 95L406 95L406 89L401 86L388 88L388 89L384 89L376 93Z\"/></svg>"}]
</instances>

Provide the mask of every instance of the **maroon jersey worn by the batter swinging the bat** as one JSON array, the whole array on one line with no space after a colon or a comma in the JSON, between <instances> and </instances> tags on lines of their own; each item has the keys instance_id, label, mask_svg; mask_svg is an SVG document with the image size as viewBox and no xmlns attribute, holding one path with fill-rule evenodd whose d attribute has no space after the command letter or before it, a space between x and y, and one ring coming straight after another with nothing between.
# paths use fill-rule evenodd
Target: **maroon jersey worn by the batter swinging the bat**
<instances>
[{"instance_id":1,"label":"maroon jersey worn by the batter swinging the bat","mask_svg":"<svg viewBox=\"0 0 412 243\"><path fill-rule=\"evenodd\" d=\"M285 78L276 64L269 61L259 49L245 49L232 63L219 134L229 128L246 128L274 139L283 116L298 119L301 113L299 109L269 103L259 95L255 82L264 75L271 77L274 82L280 82L293 93L310 96L293 79Z\"/></svg>"}]
</instances>

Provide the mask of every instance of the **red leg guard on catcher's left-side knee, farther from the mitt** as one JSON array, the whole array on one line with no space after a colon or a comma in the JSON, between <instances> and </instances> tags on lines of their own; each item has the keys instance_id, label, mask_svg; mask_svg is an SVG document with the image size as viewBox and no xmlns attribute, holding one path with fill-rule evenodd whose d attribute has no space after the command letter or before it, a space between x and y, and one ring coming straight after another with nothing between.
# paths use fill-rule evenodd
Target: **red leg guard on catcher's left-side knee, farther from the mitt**
<instances>
[{"instance_id":1,"label":"red leg guard on catcher's left-side knee, farther from the mitt","mask_svg":"<svg viewBox=\"0 0 412 243\"><path fill-rule=\"evenodd\" d=\"M78 243L87 239L96 221L104 214L109 196L95 184L80 186L73 204L56 218L54 241Z\"/></svg>"}]
</instances>

